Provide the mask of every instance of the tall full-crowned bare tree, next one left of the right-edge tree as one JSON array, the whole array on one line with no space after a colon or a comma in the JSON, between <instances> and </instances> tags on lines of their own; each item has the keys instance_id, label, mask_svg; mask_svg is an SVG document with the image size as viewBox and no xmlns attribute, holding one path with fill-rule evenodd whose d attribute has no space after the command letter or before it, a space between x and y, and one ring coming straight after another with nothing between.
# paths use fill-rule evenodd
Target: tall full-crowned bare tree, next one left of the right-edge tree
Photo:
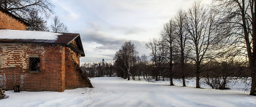
<instances>
[{"instance_id":1,"label":"tall full-crowned bare tree, next one left of the right-edge tree","mask_svg":"<svg viewBox=\"0 0 256 107\"><path fill-rule=\"evenodd\" d=\"M207 55L209 49L218 43L218 37L214 33L214 21L214 12L204 7L199 1L195 1L187 12L186 29L189 34L189 48L195 52L195 57L192 60L195 60L196 88L200 88L201 64L203 60L210 57Z\"/></svg>"}]
</instances>

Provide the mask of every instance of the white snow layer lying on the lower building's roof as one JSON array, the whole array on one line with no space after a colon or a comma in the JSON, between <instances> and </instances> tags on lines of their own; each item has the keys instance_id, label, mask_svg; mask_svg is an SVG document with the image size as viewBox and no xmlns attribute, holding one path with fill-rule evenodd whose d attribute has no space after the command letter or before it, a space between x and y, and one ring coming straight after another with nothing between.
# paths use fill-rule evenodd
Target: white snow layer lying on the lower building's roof
<instances>
[{"instance_id":1,"label":"white snow layer lying on the lower building's roof","mask_svg":"<svg viewBox=\"0 0 256 107\"><path fill-rule=\"evenodd\" d=\"M62 33L53 33L46 31L21 31L21 30L0 30L0 39L58 39Z\"/></svg>"}]
</instances>

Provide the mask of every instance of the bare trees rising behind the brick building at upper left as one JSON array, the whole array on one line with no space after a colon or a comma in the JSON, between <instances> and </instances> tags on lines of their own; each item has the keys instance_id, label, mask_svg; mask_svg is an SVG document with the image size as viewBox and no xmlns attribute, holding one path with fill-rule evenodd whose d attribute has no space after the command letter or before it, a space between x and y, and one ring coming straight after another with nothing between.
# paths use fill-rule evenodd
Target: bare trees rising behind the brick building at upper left
<instances>
[{"instance_id":1,"label":"bare trees rising behind the brick building at upper left","mask_svg":"<svg viewBox=\"0 0 256 107\"><path fill-rule=\"evenodd\" d=\"M58 16L48 27L45 18L54 13L54 5L48 0L0 0L0 8L29 23L28 31L68 32Z\"/></svg>"}]
</instances>

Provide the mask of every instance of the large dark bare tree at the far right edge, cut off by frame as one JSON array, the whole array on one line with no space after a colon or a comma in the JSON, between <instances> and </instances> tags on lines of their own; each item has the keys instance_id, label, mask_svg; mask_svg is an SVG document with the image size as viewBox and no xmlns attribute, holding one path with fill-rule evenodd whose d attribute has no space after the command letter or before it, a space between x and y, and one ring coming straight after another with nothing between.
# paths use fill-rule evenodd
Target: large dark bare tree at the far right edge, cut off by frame
<instances>
[{"instance_id":1,"label":"large dark bare tree at the far right edge, cut off by frame","mask_svg":"<svg viewBox=\"0 0 256 107\"><path fill-rule=\"evenodd\" d=\"M225 17L222 23L233 23L233 37L236 45L246 49L251 71L251 90L249 95L255 95L256 87L256 1L255 0L222 0L216 1L217 10Z\"/></svg>"}]
</instances>

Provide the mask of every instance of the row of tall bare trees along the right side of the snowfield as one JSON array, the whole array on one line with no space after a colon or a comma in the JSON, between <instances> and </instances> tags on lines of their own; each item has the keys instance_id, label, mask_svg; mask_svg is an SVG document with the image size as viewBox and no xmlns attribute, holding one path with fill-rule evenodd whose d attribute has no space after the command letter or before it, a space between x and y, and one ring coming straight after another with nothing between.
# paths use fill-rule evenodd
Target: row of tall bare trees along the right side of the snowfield
<instances>
[{"instance_id":1,"label":"row of tall bare trees along the right side of the snowfield","mask_svg":"<svg viewBox=\"0 0 256 107\"><path fill-rule=\"evenodd\" d=\"M146 44L152 76L157 80L165 72L170 85L174 77L182 79L183 86L185 78L195 77L197 88L203 79L222 90L228 79L250 76L250 95L255 95L255 11L255 0L216 0L208 7L195 1L186 11L179 10L159 39Z\"/></svg>"}]
</instances>

